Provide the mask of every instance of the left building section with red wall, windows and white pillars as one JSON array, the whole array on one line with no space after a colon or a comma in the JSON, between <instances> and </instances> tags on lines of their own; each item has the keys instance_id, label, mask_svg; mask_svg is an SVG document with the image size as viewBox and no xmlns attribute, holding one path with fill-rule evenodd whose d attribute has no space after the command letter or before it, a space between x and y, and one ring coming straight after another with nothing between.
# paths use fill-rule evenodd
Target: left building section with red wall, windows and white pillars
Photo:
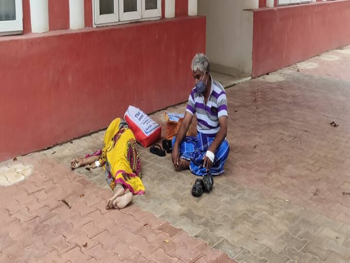
<instances>
[{"instance_id":1,"label":"left building section with red wall, windows and white pillars","mask_svg":"<svg viewBox=\"0 0 350 263\"><path fill-rule=\"evenodd\" d=\"M196 14L195 0L2 0L0 161L185 101Z\"/></svg>"}]
</instances>

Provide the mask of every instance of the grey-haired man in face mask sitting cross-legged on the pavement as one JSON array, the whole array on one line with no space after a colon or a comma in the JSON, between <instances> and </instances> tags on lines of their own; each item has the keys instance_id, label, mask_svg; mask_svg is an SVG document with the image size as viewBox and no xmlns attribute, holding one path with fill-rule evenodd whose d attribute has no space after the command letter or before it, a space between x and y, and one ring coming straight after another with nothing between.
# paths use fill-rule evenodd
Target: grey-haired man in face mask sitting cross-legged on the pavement
<instances>
[{"instance_id":1,"label":"grey-haired man in face mask sitting cross-legged on the pavement","mask_svg":"<svg viewBox=\"0 0 350 263\"><path fill-rule=\"evenodd\" d=\"M224 172L229 145L227 135L227 97L223 86L210 75L208 58L196 54L192 59L195 87L189 96L184 119L173 139L172 161L177 171L191 169L198 176ZM197 137L185 136L194 113Z\"/></svg>"}]
</instances>

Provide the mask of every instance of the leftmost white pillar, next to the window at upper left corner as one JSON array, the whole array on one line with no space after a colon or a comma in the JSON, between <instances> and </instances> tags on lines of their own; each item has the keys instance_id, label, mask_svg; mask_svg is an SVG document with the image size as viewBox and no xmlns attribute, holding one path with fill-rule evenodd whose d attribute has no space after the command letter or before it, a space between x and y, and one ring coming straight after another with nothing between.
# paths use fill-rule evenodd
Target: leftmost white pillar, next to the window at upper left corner
<instances>
[{"instance_id":1,"label":"leftmost white pillar, next to the window at upper left corner","mask_svg":"<svg viewBox=\"0 0 350 263\"><path fill-rule=\"evenodd\" d=\"M33 33L49 31L49 2L48 0L30 0L31 24Z\"/></svg>"}]
</instances>

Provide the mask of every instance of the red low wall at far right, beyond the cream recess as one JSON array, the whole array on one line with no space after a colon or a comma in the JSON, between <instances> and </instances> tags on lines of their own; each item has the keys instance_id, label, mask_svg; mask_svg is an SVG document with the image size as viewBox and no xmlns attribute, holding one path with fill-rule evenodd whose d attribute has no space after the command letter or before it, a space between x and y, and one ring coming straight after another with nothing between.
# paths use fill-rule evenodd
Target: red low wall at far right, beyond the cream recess
<instances>
[{"instance_id":1,"label":"red low wall at far right, beyond the cream recess","mask_svg":"<svg viewBox=\"0 0 350 263\"><path fill-rule=\"evenodd\" d=\"M350 0L253 12L254 77L350 44Z\"/></svg>"}]
</instances>

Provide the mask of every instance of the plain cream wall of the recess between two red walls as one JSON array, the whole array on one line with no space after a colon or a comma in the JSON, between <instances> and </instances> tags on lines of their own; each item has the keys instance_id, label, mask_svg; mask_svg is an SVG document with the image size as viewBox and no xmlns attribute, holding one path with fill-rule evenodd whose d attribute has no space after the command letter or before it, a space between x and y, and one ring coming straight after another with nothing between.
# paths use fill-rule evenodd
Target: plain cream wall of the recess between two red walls
<instances>
[{"instance_id":1,"label":"plain cream wall of the recess between two red walls","mask_svg":"<svg viewBox=\"0 0 350 263\"><path fill-rule=\"evenodd\" d=\"M198 15L207 17L207 55L212 70L251 75L253 12L259 0L198 0Z\"/></svg>"}]
</instances>

